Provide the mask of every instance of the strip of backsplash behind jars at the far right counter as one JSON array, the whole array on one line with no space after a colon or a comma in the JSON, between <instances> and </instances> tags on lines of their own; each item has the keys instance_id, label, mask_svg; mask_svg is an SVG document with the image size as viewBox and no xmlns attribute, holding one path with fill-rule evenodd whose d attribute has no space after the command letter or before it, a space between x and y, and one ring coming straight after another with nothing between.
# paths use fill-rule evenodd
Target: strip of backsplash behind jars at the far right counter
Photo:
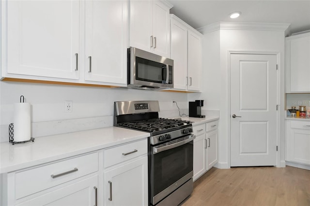
<instances>
[{"instance_id":1,"label":"strip of backsplash behind jars at the far right counter","mask_svg":"<svg viewBox=\"0 0 310 206\"><path fill-rule=\"evenodd\" d=\"M310 93L300 93L300 94L286 94L286 109L290 109L292 106L295 106L298 109L298 106L306 106L307 109L310 109Z\"/></svg>"}]
</instances>

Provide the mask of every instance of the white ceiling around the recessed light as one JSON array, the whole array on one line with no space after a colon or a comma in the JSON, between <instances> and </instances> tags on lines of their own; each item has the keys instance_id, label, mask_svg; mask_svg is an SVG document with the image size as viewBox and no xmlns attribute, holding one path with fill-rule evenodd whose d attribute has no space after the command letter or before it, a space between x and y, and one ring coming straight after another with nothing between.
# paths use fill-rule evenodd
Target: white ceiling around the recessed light
<instances>
[{"instance_id":1,"label":"white ceiling around the recessed light","mask_svg":"<svg viewBox=\"0 0 310 206\"><path fill-rule=\"evenodd\" d=\"M291 33L310 29L310 0L168 0L170 11L195 29L219 21L289 23ZM240 11L236 18L229 14Z\"/></svg>"}]
</instances>

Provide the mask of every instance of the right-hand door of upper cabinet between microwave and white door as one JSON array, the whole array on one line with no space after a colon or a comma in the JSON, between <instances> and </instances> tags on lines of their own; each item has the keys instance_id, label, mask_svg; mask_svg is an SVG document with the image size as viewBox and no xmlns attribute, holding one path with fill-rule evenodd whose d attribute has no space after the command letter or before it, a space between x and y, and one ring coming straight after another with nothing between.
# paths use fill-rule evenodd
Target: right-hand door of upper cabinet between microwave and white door
<instances>
[{"instance_id":1,"label":"right-hand door of upper cabinet between microwave and white door","mask_svg":"<svg viewBox=\"0 0 310 206\"><path fill-rule=\"evenodd\" d=\"M202 54L201 37L188 30L188 90L201 90Z\"/></svg>"}]
</instances>

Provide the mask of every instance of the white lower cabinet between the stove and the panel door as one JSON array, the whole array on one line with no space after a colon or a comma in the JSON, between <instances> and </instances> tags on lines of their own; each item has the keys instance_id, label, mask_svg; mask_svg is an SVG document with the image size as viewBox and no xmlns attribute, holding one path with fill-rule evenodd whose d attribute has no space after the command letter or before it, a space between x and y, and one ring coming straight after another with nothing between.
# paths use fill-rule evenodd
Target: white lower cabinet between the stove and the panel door
<instances>
[{"instance_id":1,"label":"white lower cabinet between the stove and the panel door","mask_svg":"<svg viewBox=\"0 0 310 206\"><path fill-rule=\"evenodd\" d=\"M218 162L217 127L218 121L193 126L193 133L196 135L196 138L194 139L193 157L194 181Z\"/></svg>"}]
</instances>

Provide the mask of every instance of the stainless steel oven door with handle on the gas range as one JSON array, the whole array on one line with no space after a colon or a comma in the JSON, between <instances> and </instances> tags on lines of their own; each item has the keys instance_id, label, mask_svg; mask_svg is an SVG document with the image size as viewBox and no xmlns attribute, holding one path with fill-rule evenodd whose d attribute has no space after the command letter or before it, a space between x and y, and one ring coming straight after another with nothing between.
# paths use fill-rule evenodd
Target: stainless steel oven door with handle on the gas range
<instances>
[{"instance_id":1,"label":"stainless steel oven door with handle on the gas range","mask_svg":"<svg viewBox=\"0 0 310 206\"><path fill-rule=\"evenodd\" d=\"M193 139L190 134L150 147L150 200L155 205L193 177Z\"/></svg>"}]
</instances>

